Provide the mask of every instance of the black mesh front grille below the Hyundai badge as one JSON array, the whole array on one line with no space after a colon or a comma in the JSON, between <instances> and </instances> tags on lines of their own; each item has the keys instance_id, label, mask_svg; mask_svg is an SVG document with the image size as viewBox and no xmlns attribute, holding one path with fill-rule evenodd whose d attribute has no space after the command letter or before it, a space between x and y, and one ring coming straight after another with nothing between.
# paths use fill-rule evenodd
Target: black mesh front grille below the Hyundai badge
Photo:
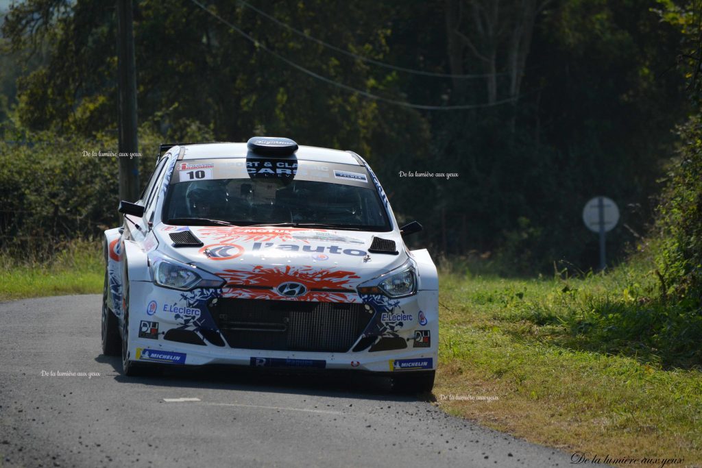
<instances>
[{"instance_id":1,"label":"black mesh front grille below the Hyundai badge","mask_svg":"<svg viewBox=\"0 0 702 468\"><path fill-rule=\"evenodd\" d=\"M363 304L223 299L209 305L232 348L347 352L372 313Z\"/></svg>"}]
</instances>

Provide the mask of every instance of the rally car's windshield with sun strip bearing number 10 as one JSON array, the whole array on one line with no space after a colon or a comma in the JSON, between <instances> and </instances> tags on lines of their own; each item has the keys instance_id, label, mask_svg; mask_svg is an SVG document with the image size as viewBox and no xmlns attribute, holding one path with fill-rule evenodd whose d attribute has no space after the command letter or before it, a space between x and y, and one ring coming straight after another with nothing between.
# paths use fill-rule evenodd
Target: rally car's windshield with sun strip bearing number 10
<instances>
[{"instance_id":1,"label":"rally car's windshield with sun strip bearing number 10","mask_svg":"<svg viewBox=\"0 0 702 468\"><path fill-rule=\"evenodd\" d=\"M276 171L241 163L179 163L163 220L174 225L290 225L387 232L392 228L365 168L345 164ZM259 161L260 163L260 161ZM258 163L255 164L258 166Z\"/></svg>"}]
</instances>

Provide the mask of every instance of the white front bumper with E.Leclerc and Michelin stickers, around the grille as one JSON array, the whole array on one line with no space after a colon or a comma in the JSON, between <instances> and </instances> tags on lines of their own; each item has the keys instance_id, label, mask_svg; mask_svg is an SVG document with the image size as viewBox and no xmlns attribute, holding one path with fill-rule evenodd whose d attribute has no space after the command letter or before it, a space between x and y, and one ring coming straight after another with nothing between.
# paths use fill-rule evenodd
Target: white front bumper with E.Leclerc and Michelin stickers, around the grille
<instances>
[{"instance_id":1,"label":"white front bumper with E.Leclerc and Michelin stickers, around the grille","mask_svg":"<svg viewBox=\"0 0 702 468\"><path fill-rule=\"evenodd\" d=\"M363 349L347 352L290 351L230 347L213 344L207 337L218 332L211 316L217 290L178 291L150 281L132 281L129 297L128 352L137 363L205 366L230 365L252 368L359 370L406 373L435 370L438 349L438 292L420 290L397 300L357 296L356 303L371 305L373 318L358 336L354 349L366 335L376 342L391 338L406 342L404 349ZM400 319L400 320L398 320ZM201 344L165 340L169 330L188 330L203 337ZM208 333L205 333L208 331ZM140 336L141 335L141 336Z\"/></svg>"}]
</instances>

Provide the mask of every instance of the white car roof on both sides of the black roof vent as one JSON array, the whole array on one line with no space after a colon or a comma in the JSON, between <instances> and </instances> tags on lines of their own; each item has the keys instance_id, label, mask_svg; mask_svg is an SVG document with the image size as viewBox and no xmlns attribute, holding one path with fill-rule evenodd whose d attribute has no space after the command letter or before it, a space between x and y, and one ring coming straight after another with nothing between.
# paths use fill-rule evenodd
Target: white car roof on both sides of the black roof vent
<instances>
[{"instance_id":1,"label":"white car roof on both sides of the black roof vent","mask_svg":"<svg viewBox=\"0 0 702 468\"><path fill-rule=\"evenodd\" d=\"M246 143L194 143L180 146L185 147L183 160L245 158L249 154ZM295 156L301 161L361 165L353 154L339 149L300 146ZM259 156L254 155L254 157Z\"/></svg>"}]
</instances>

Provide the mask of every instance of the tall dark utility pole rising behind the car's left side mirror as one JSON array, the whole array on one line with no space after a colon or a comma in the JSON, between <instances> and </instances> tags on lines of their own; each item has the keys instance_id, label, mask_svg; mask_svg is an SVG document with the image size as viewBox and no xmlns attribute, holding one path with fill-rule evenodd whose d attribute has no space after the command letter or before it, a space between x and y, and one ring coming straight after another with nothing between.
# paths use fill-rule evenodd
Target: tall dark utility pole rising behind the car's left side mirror
<instances>
[{"instance_id":1,"label":"tall dark utility pole rising behind the car's left side mirror","mask_svg":"<svg viewBox=\"0 0 702 468\"><path fill-rule=\"evenodd\" d=\"M117 0L117 74L119 93L119 153L139 151L136 134L136 66L132 0ZM139 159L119 158L119 199L139 198Z\"/></svg>"}]
</instances>

